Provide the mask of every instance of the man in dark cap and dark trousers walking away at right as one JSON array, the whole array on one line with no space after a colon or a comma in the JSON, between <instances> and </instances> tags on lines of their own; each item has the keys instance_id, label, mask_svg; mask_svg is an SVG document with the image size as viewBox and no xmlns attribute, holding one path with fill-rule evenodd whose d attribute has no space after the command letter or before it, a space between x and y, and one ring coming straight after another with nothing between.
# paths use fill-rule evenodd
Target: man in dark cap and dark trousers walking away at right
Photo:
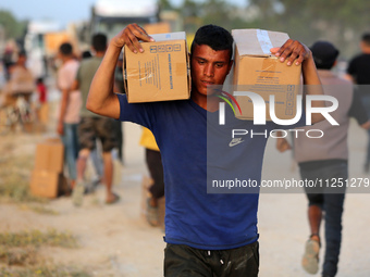
<instances>
[{"instance_id":1,"label":"man in dark cap and dark trousers walking away at right","mask_svg":"<svg viewBox=\"0 0 370 277\"><path fill-rule=\"evenodd\" d=\"M322 277L334 277L342 241L342 213L345 199L345 185L337 188L328 187L325 180L345 182L348 179L348 126L354 117L365 128L370 128L370 122L360 97L354 86L338 78L331 71L340 51L329 41L317 41L310 47L323 91L335 97L338 109L332 113L338 126L332 126L328 121L314 126L303 127L305 131L320 129L324 133L321 138L294 137L294 158L299 165L301 179L321 180L324 186L305 187L308 199L308 223L310 236L305 245L303 267L310 274L319 270L319 252L321 247L320 226L325 223L325 251ZM291 149L285 138L279 138L276 147L281 152Z\"/></svg>"}]
</instances>

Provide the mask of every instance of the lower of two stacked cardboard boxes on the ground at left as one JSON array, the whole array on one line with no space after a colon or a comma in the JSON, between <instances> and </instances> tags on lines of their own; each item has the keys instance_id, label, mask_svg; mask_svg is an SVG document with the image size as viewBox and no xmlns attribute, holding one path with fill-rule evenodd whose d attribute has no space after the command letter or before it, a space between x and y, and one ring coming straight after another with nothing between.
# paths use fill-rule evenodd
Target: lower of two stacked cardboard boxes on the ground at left
<instances>
[{"instance_id":1,"label":"lower of two stacked cardboard boxes on the ground at left","mask_svg":"<svg viewBox=\"0 0 370 277\"><path fill-rule=\"evenodd\" d=\"M65 187L63 174L48 171L34 171L30 177L30 192L36 197L57 198Z\"/></svg>"}]
</instances>

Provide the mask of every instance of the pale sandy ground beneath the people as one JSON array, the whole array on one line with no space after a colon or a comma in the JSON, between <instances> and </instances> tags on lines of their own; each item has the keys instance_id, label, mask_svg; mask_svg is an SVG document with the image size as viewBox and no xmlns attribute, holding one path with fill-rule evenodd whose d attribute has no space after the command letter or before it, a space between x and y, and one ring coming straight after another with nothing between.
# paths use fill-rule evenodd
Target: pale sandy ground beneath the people
<instances>
[{"instance_id":1,"label":"pale sandy ground beneath the people","mask_svg":"<svg viewBox=\"0 0 370 277\"><path fill-rule=\"evenodd\" d=\"M16 152L34 153L35 142L45 135L0 137L0 143L16 139ZM45 248L42 253L55 264L74 264L94 276L162 276L163 231L149 226L140 215L141 179L147 175L144 151L138 146L140 127L124 123L123 167L116 163L114 190L121 201L103 204L104 190L84 199L82 207L61 197L47 206L59 215L42 215L20 204L0 204L0 232L55 228L78 238L78 249ZM361 172L366 134L355 123L350 127L350 176L369 177ZM274 141L267 148L264 179L299 178L291 154L280 154ZM370 189L369 191L370 192ZM343 216L343 248L338 277L370 276L369 193L348 193ZM308 238L307 201L304 193L261 193L259 206L260 277L310 276L300 267L304 243ZM317 274L316 276L319 276Z\"/></svg>"}]
</instances>

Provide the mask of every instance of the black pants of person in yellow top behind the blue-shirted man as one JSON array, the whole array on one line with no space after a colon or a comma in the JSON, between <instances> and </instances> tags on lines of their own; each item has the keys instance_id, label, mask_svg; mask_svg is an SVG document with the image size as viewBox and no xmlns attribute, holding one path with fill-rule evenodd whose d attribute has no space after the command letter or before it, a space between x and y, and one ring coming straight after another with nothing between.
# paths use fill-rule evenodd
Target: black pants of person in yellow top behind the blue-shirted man
<instances>
[{"instance_id":1,"label":"black pants of person in yellow top behind the blue-shirted man","mask_svg":"<svg viewBox=\"0 0 370 277\"><path fill-rule=\"evenodd\" d=\"M163 165L162 158L159 151L146 149L146 160L150 177L153 179L153 185L149 191L153 198L161 198L164 196L164 180L163 180Z\"/></svg>"}]
</instances>

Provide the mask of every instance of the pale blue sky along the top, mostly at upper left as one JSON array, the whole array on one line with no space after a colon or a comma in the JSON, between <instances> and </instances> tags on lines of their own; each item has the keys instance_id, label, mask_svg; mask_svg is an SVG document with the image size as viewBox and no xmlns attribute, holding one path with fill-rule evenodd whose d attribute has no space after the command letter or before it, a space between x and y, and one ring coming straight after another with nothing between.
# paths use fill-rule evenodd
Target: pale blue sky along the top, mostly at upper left
<instances>
[{"instance_id":1,"label":"pale blue sky along the top, mostly at upper left","mask_svg":"<svg viewBox=\"0 0 370 277\"><path fill-rule=\"evenodd\" d=\"M1 0L0 10L11 11L17 20L49 18L65 26L70 22L88 20L95 2L96 0ZM139 2L140 0L137 0L137 3ZM171 2L177 5L183 0ZM243 4L245 0L230 2Z\"/></svg>"}]
</instances>

